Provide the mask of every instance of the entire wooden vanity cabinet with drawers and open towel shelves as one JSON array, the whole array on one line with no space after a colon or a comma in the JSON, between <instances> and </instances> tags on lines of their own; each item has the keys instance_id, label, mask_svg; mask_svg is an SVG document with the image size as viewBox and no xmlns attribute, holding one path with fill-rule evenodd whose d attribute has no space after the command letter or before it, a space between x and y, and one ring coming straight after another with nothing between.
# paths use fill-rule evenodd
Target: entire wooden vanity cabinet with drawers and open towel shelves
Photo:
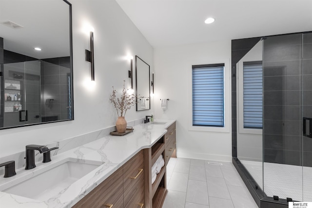
<instances>
[{"instance_id":1,"label":"entire wooden vanity cabinet with drawers and open towel shelves","mask_svg":"<svg viewBox=\"0 0 312 208\"><path fill-rule=\"evenodd\" d=\"M152 184L152 166L163 155L162 167ZM161 208L167 194L166 165L176 157L176 122L153 147L139 151L74 208Z\"/></svg>"}]
</instances>

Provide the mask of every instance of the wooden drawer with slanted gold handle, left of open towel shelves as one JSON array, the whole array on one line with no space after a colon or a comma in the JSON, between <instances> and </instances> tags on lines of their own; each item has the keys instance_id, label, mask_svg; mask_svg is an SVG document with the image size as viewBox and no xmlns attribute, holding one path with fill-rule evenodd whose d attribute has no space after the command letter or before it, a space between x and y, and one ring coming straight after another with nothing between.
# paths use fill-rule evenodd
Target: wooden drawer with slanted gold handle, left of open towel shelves
<instances>
[{"instance_id":1,"label":"wooden drawer with slanted gold handle, left of open towel shelves","mask_svg":"<svg viewBox=\"0 0 312 208\"><path fill-rule=\"evenodd\" d=\"M127 205L139 189L144 190L143 151L139 151L123 166L124 204Z\"/></svg>"}]
</instances>

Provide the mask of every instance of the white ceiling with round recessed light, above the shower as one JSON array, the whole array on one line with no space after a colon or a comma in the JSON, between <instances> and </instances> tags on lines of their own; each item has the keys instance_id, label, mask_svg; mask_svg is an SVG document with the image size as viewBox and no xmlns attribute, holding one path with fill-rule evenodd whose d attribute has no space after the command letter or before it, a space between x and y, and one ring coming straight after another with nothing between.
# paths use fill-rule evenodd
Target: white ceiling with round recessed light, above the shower
<instances>
[{"instance_id":1,"label":"white ceiling with round recessed light, above the shower","mask_svg":"<svg viewBox=\"0 0 312 208\"><path fill-rule=\"evenodd\" d=\"M312 31L312 0L117 0L157 47ZM204 20L214 17L215 22Z\"/></svg>"}]
</instances>

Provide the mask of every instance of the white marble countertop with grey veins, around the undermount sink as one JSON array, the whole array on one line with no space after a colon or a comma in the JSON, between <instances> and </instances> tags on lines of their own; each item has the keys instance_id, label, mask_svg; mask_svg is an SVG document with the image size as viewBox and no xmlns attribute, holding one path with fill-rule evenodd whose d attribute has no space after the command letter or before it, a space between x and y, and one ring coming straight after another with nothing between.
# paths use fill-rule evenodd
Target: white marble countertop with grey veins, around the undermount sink
<instances>
[{"instance_id":1,"label":"white marble countertop with grey veins, around the undermount sink","mask_svg":"<svg viewBox=\"0 0 312 208\"><path fill-rule=\"evenodd\" d=\"M98 184L103 182L114 171L125 164L138 151L151 148L166 132L175 120L157 120L165 124L139 124L134 126L134 131L124 136L107 135L80 147L51 156L49 163L37 162L36 168L16 170L17 175L10 178L0 178L0 190L8 189L22 181L44 172L47 167L56 167L67 158L79 163L98 161L103 163L92 170L59 194L35 200L8 194L0 191L1 208L70 208L81 198L87 195ZM48 180L48 179L47 179Z\"/></svg>"}]
</instances>

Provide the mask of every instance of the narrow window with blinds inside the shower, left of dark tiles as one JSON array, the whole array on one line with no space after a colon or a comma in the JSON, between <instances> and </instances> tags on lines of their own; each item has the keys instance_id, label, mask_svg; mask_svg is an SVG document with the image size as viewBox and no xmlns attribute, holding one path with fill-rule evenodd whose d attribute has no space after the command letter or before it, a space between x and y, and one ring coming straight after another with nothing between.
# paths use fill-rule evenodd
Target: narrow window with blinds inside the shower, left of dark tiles
<instances>
[{"instance_id":1,"label":"narrow window with blinds inside the shower, left of dark tiles","mask_svg":"<svg viewBox=\"0 0 312 208\"><path fill-rule=\"evenodd\" d=\"M262 129L262 61L243 63L244 128Z\"/></svg>"}]
</instances>

